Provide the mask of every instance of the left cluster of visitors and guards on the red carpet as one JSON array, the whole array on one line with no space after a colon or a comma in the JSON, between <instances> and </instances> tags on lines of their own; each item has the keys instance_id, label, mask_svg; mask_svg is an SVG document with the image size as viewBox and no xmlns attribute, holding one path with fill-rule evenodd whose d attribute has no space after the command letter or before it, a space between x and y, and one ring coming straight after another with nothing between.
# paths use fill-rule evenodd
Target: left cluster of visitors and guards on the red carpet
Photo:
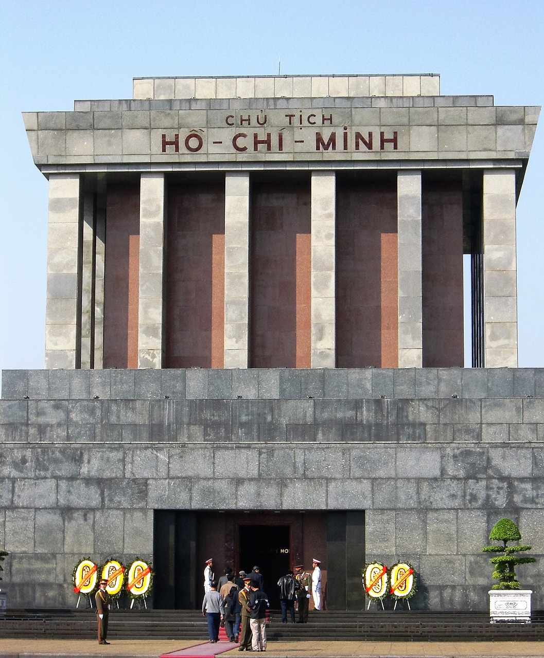
<instances>
[{"instance_id":1,"label":"left cluster of visitors and guards on the red carpet","mask_svg":"<svg viewBox=\"0 0 544 658\"><path fill-rule=\"evenodd\" d=\"M207 617L211 644L219 640L219 626L223 621L229 642L240 642L238 651L266 651L269 607L258 565L250 574L240 571L236 577L229 569L215 580L213 559L206 561L202 614Z\"/></svg>"}]
</instances>

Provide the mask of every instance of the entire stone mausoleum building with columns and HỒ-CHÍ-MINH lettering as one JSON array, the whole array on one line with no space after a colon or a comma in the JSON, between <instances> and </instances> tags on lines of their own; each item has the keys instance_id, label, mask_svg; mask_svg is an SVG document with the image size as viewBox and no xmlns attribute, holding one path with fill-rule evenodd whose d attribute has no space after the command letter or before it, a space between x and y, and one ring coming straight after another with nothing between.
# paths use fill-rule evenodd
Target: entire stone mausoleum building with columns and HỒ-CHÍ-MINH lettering
<instances>
[{"instance_id":1,"label":"entire stone mausoleum building with columns and H\u1ed2-CH\u00cd-MINH lettering","mask_svg":"<svg viewBox=\"0 0 544 658\"><path fill-rule=\"evenodd\" d=\"M485 609L497 519L544 552L544 370L518 368L516 297L539 107L433 74L133 91L24 114L47 308L45 370L2 380L13 605L74 605L80 558L138 556L155 607L198 607L213 555L270 590L318 557L329 609L402 559L412 607Z\"/></svg>"}]
</instances>

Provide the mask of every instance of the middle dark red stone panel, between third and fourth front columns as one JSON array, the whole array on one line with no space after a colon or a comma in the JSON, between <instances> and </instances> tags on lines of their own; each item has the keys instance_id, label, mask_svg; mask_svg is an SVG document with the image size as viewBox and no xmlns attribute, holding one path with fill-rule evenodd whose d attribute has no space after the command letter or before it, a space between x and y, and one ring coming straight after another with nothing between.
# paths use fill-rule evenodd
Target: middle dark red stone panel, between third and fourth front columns
<instances>
[{"instance_id":1,"label":"middle dark red stone panel, between third and fourth front columns","mask_svg":"<svg viewBox=\"0 0 544 658\"><path fill-rule=\"evenodd\" d=\"M310 233L310 182L252 186L253 368L310 368Z\"/></svg>"}]
</instances>

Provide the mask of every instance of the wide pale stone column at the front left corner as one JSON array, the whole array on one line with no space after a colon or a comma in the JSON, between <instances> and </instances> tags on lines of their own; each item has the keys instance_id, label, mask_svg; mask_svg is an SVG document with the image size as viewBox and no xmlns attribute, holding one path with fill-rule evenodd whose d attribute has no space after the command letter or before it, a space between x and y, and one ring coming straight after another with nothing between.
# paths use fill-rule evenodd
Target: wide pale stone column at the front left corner
<instances>
[{"instance_id":1,"label":"wide pale stone column at the front left corner","mask_svg":"<svg viewBox=\"0 0 544 658\"><path fill-rule=\"evenodd\" d=\"M79 368L80 177L49 175L45 368Z\"/></svg>"}]
</instances>

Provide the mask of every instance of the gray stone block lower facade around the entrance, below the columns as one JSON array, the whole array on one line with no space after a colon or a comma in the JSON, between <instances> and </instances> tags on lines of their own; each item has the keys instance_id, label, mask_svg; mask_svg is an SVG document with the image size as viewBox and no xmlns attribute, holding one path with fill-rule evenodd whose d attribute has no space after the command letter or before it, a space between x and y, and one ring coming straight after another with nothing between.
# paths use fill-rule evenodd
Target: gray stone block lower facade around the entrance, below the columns
<instances>
[{"instance_id":1,"label":"gray stone block lower facade around the entrance, below the columns","mask_svg":"<svg viewBox=\"0 0 544 658\"><path fill-rule=\"evenodd\" d=\"M497 519L544 553L541 369L11 370L0 441L14 607L73 605L80 557L152 559L161 509L364 511L358 567L410 561L434 610L486 609Z\"/></svg>"}]
</instances>

